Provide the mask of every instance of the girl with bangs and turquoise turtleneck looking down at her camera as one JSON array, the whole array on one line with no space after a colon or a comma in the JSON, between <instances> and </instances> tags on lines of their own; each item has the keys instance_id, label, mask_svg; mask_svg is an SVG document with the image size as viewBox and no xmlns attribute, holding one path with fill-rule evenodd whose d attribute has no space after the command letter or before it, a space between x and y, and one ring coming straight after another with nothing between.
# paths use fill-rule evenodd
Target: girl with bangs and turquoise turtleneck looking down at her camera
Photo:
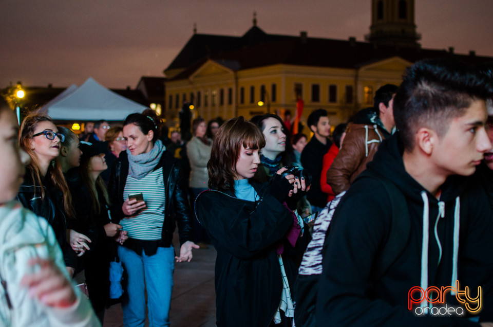
<instances>
[{"instance_id":1,"label":"girl with bangs and turquoise turtleneck looking down at her camera","mask_svg":"<svg viewBox=\"0 0 493 327\"><path fill-rule=\"evenodd\" d=\"M211 189L195 202L217 250L218 326L292 325L296 267L283 253L295 245L300 226L287 206L305 194L305 181L281 177L282 168L269 183L256 183L264 145L263 134L243 117L222 124L207 164Z\"/></svg>"}]
</instances>

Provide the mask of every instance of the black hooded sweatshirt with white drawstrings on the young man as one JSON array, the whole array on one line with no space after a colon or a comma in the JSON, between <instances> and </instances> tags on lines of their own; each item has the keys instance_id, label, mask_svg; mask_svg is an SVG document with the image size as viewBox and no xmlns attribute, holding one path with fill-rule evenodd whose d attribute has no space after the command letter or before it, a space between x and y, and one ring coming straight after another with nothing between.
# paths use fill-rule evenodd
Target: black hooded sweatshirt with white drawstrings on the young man
<instances>
[{"instance_id":1,"label":"black hooded sweatshirt with white drawstrings on the young man","mask_svg":"<svg viewBox=\"0 0 493 327\"><path fill-rule=\"evenodd\" d=\"M356 179L337 207L327 234L317 322L477 325L453 315L418 316L414 310L420 304L413 304L408 310L412 287L456 286L456 280L462 290L469 286L472 297L476 297L478 286L482 287L480 320L493 321L493 220L484 191L470 183L471 178L450 176L437 199L406 172L402 154L399 136L394 135L381 144L368 169L390 179L406 199L410 231L408 239L403 240L403 252L383 275L376 277L378 258L392 222L390 197L381 181ZM419 294L414 297L419 298ZM454 300L455 296L448 295L447 305L459 306Z\"/></svg>"}]
</instances>

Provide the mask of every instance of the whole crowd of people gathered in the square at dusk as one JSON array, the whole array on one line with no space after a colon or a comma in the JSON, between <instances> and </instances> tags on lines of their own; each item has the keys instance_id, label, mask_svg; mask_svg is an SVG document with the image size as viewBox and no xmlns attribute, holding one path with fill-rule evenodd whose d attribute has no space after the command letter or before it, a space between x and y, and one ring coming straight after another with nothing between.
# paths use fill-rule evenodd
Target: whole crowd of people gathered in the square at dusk
<instances>
[{"instance_id":1,"label":"whole crowd of people gathered in the square at dusk","mask_svg":"<svg viewBox=\"0 0 493 327\"><path fill-rule=\"evenodd\" d=\"M169 325L175 262L212 245L218 326L491 326L492 100L491 67L447 60L310 135L147 109L77 136L0 100L0 318L102 324L115 260L125 326Z\"/></svg>"}]
</instances>

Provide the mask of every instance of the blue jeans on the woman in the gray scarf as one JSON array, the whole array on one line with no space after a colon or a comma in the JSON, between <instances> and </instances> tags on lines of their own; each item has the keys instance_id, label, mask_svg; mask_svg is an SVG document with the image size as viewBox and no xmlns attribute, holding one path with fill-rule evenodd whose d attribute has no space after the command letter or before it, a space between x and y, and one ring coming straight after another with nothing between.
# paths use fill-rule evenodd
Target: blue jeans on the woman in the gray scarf
<instances>
[{"instance_id":1,"label":"blue jeans on the woman in the gray scarf","mask_svg":"<svg viewBox=\"0 0 493 327\"><path fill-rule=\"evenodd\" d=\"M122 300L125 327L144 326L145 289L149 325L169 326L169 304L175 271L173 247L158 247L156 254L149 257L144 251L138 255L133 250L119 246L118 256L126 277L123 280Z\"/></svg>"}]
</instances>

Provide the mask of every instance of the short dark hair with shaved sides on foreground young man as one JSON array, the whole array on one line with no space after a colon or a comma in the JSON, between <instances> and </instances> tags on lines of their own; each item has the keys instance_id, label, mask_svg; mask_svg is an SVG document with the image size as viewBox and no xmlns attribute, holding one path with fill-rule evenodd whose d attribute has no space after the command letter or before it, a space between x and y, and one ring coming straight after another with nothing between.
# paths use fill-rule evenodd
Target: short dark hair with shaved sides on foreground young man
<instances>
[{"instance_id":1,"label":"short dark hair with shaved sides on foreground young man","mask_svg":"<svg viewBox=\"0 0 493 327\"><path fill-rule=\"evenodd\" d=\"M416 62L406 69L393 104L405 149L413 149L414 135L421 127L442 137L450 120L464 115L472 101L492 96L493 84L475 67L446 59Z\"/></svg>"}]
</instances>

